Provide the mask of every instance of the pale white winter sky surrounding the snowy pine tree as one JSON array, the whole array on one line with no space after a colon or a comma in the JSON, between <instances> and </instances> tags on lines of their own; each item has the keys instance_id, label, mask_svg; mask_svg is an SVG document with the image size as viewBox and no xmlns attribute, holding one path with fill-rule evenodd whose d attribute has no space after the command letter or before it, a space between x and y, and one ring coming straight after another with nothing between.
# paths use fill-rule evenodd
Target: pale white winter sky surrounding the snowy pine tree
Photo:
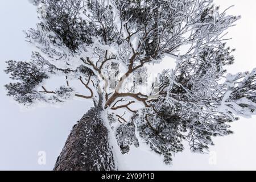
<instances>
[{"instance_id":1,"label":"pale white winter sky surrounding the snowy pine tree","mask_svg":"<svg viewBox=\"0 0 256 182\"><path fill-rule=\"evenodd\" d=\"M231 73L250 71L256 67L256 22L254 0L216 0L221 9L236 5L229 14L242 15L236 27L229 30L233 39L228 45L236 48L236 63L229 67ZM3 85L9 78L3 69L6 60L30 59L32 47L24 42L23 30L35 27L36 10L27 0L0 0L0 169L51 170L69 131L91 106L89 102L70 101L60 108L37 107L22 111L20 106L5 96ZM168 67L168 65L166 65ZM254 169L256 170L256 122L241 119L233 123L235 132L228 137L214 138L216 146L210 147L216 164L209 163L210 156L192 154L188 147L174 158L173 166L166 166L160 156L152 154L143 144L121 156L120 169ZM46 165L38 164L38 152L46 151Z\"/></svg>"}]
</instances>

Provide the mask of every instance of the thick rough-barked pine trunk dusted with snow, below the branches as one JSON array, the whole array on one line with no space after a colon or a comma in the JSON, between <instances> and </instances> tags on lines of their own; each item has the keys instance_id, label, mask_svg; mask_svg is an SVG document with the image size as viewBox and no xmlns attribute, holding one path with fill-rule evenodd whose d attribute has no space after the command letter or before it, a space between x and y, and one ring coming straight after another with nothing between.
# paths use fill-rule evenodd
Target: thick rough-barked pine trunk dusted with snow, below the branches
<instances>
[{"instance_id":1,"label":"thick rough-barked pine trunk dusted with snow, below the branches","mask_svg":"<svg viewBox=\"0 0 256 182\"><path fill-rule=\"evenodd\" d=\"M112 171L117 170L109 130L101 117L102 102L77 122L57 158L55 171Z\"/></svg>"}]
</instances>

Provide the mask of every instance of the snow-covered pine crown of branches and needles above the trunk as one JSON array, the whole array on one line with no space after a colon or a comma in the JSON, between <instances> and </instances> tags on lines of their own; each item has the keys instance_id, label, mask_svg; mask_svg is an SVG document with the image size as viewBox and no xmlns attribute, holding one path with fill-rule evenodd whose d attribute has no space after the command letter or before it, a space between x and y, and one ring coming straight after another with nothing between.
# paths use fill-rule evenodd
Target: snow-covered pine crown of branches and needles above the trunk
<instances>
[{"instance_id":1,"label":"snow-covered pine crown of branches and needles above the trunk","mask_svg":"<svg viewBox=\"0 0 256 182\"><path fill-rule=\"evenodd\" d=\"M220 12L212 0L32 2L40 22L26 35L38 52L28 62L7 61L6 69L19 81L6 85L7 94L22 104L80 97L97 105L103 93L104 109L114 113L110 122L120 122L114 132L122 153L139 146L138 131L167 164L183 151L183 141L193 152L207 152L212 137L232 133L229 123L237 116L256 114L256 70L226 73L235 51L226 47L226 30L240 16ZM176 68L148 82L147 64L165 56L176 59ZM66 85L47 90L55 76ZM70 86L74 80L89 96ZM147 92L138 89L148 85Z\"/></svg>"}]
</instances>

